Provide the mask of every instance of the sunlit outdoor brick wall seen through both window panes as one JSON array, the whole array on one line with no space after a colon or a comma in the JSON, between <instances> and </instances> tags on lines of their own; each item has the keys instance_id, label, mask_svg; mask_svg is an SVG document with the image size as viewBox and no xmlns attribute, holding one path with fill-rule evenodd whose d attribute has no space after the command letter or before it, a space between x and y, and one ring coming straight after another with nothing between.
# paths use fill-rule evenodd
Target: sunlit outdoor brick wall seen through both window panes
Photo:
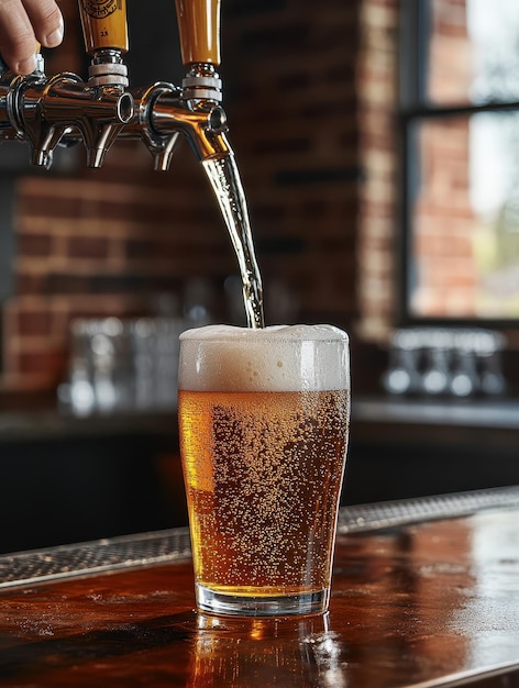
<instances>
[{"instance_id":1,"label":"sunlit outdoor brick wall seen through both window panes","mask_svg":"<svg viewBox=\"0 0 519 688\"><path fill-rule=\"evenodd\" d=\"M437 104L460 103L468 97L472 60L465 4L465 0L433 4L428 97ZM446 118L428 122L419 131L421 186L412 219L418 276L411 301L415 315L476 314L468 130L466 118Z\"/></svg>"}]
</instances>

